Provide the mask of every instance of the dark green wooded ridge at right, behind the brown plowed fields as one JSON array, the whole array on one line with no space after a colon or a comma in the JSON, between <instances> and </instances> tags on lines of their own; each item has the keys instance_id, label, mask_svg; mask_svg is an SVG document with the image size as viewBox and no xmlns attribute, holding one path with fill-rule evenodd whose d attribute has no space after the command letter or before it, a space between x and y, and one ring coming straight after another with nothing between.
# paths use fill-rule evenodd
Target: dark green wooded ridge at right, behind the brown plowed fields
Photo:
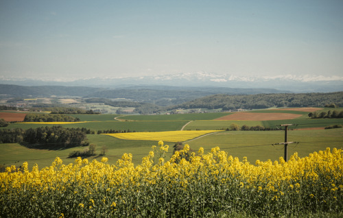
<instances>
[{"instance_id":1,"label":"dark green wooded ridge at right, behind the brown plowed fields","mask_svg":"<svg viewBox=\"0 0 343 218\"><path fill-rule=\"evenodd\" d=\"M343 106L343 92L337 93L284 93L257 95L225 95L217 94L188 101L174 108L208 108L222 110L261 109L271 107L324 107L334 103Z\"/></svg>"}]
</instances>

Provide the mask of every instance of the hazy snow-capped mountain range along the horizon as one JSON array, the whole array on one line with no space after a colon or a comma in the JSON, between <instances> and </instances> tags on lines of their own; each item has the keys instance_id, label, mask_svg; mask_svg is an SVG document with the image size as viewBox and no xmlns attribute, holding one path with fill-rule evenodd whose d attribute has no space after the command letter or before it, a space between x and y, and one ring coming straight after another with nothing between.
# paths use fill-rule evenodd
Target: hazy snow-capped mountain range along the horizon
<instances>
[{"instance_id":1,"label":"hazy snow-capped mountain range along the horizon","mask_svg":"<svg viewBox=\"0 0 343 218\"><path fill-rule=\"evenodd\" d=\"M343 77L311 75L239 77L229 74L197 72L141 77L92 77L78 80L32 80L28 78L0 77L0 84L21 86L88 86L98 88L123 88L130 86L183 87L175 89L189 87L263 88L275 89L275 93L279 93L280 91L283 93L327 93L343 90Z\"/></svg>"}]
</instances>

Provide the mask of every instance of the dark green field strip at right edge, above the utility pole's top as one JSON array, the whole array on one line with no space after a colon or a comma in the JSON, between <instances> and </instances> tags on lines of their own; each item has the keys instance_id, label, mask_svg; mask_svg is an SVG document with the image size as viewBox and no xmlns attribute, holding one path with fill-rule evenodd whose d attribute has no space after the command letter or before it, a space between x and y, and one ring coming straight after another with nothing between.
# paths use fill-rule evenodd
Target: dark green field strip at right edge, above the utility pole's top
<instances>
[{"instance_id":1,"label":"dark green field strip at right edge, above the utility pole's top","mask_svg":"<svg viewBox=\"0 0 343 218\"><path fill-rule=\"evenodd\" d=\"M292 120L279 120L279 121L262 121L265 127L276 127L281 124L298 124L289 128L324 128L329 125L343 124L343 119L292 119Z\"/></svg>"}]
</instances>

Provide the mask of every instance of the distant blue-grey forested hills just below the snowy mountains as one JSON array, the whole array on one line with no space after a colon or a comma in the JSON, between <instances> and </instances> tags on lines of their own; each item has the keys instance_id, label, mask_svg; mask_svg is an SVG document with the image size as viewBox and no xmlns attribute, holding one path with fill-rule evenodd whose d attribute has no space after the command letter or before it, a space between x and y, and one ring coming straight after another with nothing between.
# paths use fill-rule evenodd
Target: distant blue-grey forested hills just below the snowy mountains
<instances>
[{"instance_id":1,"label":"distant blue-grey forested hills just below the snowy mountains","mask_svg":"<svg viewBox=\"0 0 343 218\"><path fill-rule=\"evenodd\" d=\"M16 86L0 84L0 93L8 97L78 96L83 98L128 99L135 102L171 106L207 95L225 93L250 95L256 93L288 93L273 88L227 88L185 86L130 86L126 88L92 88L83 86ZM16 99L16 100L18 100ZM15 99L14 99L15 100ZM23 99L22 99L23 100ZM8 101L10 102L10 101Z\"/></svg>"}]
</instances>

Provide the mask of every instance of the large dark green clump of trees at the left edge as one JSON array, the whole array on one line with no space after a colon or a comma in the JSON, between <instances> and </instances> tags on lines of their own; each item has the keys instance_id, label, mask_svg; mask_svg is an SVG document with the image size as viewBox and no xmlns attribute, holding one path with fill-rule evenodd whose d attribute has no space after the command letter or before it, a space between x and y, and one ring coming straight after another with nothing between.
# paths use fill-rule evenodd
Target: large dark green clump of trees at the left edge
<instances>
[{"instance_id":1,"label":"large dark green clump of trees at the left edge","mask_svg":"<svg viewBox=\"0 0 343 218\"><path fill-rule=\"evenodd\" d=\"M66 147L88 145L86 133L76 128L52 127L0 130L0 143L61 144Z\"/></svg>"}]
</instances>

